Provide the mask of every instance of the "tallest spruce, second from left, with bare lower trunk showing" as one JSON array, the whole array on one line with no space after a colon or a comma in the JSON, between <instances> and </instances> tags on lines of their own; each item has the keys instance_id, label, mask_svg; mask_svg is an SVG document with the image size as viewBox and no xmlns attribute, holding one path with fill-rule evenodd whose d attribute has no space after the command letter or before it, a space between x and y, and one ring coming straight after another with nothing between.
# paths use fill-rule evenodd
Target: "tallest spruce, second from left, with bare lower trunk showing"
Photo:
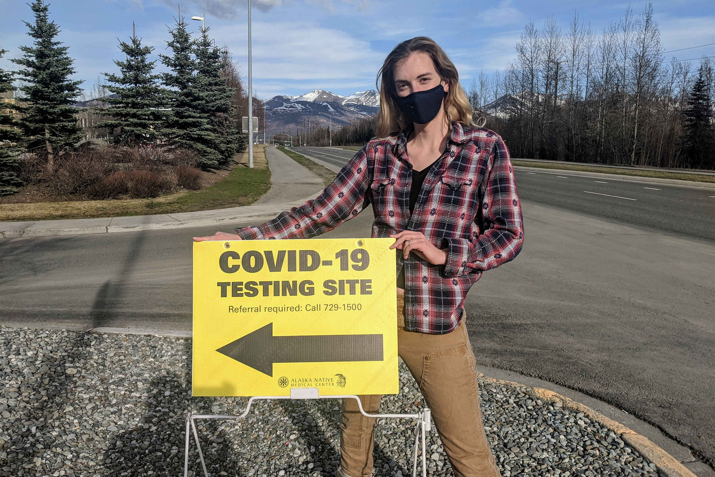
<instances>
[{"instance_id":1,"label":"tallest spruce, second from left, with bare lower trunk showing","mask_svg":"<svg viewBox=\"0 0 715 477\"><path fill-rule=\"evenodd\" d=\"M20 88L26 107L19 123L29 149L41 147L47 154L47 168L54 170L54 156L72 147L81 139L74 114L74 99L79 94L81 81L70 79L74 74L73 60L67 46L55 41L59 27L49 21L49 4L35 0L31 5L35 23L25 22L34 46L21 46L24 53L12 62L19 64L18 74L26 84Z\"/></svg>"}]
</instances>

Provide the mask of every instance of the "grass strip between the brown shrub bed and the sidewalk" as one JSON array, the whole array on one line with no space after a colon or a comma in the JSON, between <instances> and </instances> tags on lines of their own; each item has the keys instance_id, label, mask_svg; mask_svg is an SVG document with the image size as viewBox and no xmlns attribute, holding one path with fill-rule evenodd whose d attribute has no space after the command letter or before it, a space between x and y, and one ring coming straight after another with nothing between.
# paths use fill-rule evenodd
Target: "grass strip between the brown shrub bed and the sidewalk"
<instances>
[{"instance_id":1,"label":"grass strip between the brown shrub bed and the sidewalk","mask_svg":"<svg viewBox=\"0 0 715 477\"><path fill-rule=\"evenodd\" d=\"M154 199L4 204L0 205L0 221L175 214L251 205L270 189L270 170L263 149L255 147L253 169L248 167L245 152L225 179L197 192L177 192Z\"/></svg>"}]
</instances>

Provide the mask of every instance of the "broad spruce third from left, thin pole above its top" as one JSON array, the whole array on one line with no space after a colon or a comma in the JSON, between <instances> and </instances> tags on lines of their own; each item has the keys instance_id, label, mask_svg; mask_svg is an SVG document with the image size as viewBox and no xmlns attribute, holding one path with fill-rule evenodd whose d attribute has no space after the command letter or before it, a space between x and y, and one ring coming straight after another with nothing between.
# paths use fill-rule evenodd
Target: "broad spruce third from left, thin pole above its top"
<instances>
[{"instance_id":1,"label":"broad spruce third from left, thin pole above its top","mask_svg":"<svg viewBox=\"0 0 715 477\"><path fill-rule=\"evenodd\" d=\"M162 109L165 90L157 82L159 75L153 74L156 62L147 60L154 47L142 46L142 39L137 38L133 29L131 43L119 41L119 49L127 55L126 61L114 62L121 75L104 73L112 83L107 89L118 96L102 99L111 107L109 111L102 109L102 114L109 114L112 119L97 127L106 127L109 134L117 132L112 138L115 144L133 147L152 144L162 137L166 116Z\"/></svg>"}]
</instances>

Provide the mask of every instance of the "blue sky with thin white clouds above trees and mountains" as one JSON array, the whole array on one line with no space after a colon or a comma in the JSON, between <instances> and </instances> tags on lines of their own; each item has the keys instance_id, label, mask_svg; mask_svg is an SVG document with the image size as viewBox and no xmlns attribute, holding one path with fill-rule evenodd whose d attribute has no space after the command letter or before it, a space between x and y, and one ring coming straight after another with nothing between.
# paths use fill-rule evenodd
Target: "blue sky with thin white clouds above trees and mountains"
<instances>
[{"instance_id":1,"label":"blue sky with thin white clouds above trees and mountains","mask_svg":"<svg viewBox=\"0 0 715 477\"><path fill-rule=\"evenodd\" d=\"M29 1L29 0L28 0ZM177 14L172 0L54 0L51 18L61 27L59 40L75 59L77 79L86 89L116 72L117 37L132 34L132 21L144 44L164 52L167 25ZM206 14L217 44L226 45L247 74L245 0L181 1L182 14ZM630 4L639 13L645 1ZM254 0L253 81L259 97L302 94L327 89L352 94L375 87L375 73L385 55L400 41L431 36L450 54L463 84L479 74L506 67L524 24L537 26L554 16L565 30L574 13L596 32L618 21L628 3L587 1L435 1L435 0ZM666 51L715 43L712 0L653 2ZM0 49L9 50L0 67L16 69L9 58L31 43L23 20L31 21L22 0L0 0ZM198 21L191 21L197 31ZM715 45L666 54L667 59L715 55ZM695 62L696 63L696 62Z\"/></svg>"}]
</instances>

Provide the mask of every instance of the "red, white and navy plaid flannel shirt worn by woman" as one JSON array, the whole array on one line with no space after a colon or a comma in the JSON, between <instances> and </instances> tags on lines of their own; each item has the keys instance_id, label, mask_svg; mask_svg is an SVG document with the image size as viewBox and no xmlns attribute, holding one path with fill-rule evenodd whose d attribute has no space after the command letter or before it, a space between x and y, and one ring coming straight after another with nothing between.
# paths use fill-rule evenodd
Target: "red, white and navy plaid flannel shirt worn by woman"
<instances>
[{"instance_id":1,"label":"red, white and navy plaid flannel shirt worn by woman","mask_svg":"<svg viewBox=\"0 0 715 477\"><path fill-rule=\"evenodd\" d=\"M521 251L521 205L503 139L489 129L453 122L445 152L425 177L410 215L407 137L404 132L371 140L319 197L236 232L248 240L315 237L372 204L373 237L415 230L435 247L449 249L444 265L432 265L415 253L404 260L396 250L395 277L405 267L405 327L450 333L459 325L467 292L482 272Z\"/></svg>"}]
</instances>

